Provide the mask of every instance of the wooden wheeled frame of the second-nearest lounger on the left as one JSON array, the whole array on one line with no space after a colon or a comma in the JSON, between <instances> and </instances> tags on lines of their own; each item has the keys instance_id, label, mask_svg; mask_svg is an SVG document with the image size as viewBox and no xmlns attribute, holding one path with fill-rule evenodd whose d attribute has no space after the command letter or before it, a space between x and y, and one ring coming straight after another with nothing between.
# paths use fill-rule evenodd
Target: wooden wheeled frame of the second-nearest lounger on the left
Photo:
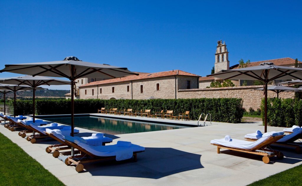
<instances>
[{"instance_id":1,"label":"wooden wheeled frame of the second-nearest lounger on the left","mask_svg":"<svg viewBox=\"0 0 302 186\"><path fill-rule=\"evenodd\" d=\"M67 149L71 149L71 146L66 143L65 141L57 138L55 135L50 134L46 131L44 131L46 133L46 135L48 135L49 137L51 137L52 139L60 142L61 144L55 144L55 145L49 145L48 147L46 147L45 151L47 153L53 152L53 157L57 158L60 155L60 150L67 150ZM102 145L105 145L106 143L111 143L111 142L103 142Z\"/></svg>"}]
</instances>

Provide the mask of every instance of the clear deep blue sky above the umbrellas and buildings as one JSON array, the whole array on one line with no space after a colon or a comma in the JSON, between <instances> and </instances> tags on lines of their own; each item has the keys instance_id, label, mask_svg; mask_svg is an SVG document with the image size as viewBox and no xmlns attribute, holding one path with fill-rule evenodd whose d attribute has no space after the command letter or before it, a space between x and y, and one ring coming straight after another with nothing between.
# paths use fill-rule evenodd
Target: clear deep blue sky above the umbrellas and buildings
<instances>
[{"instance_id":1,"label":"clear deep blue sky above the umbrellas and buildings","mask_svg":"<svg viewBox=\"0 0 302 186\"><path fill-rule=\"evenodd\" d=\"M205 76L220 39L230 65L240 58L302 61L301 7L302 1L0 0L0 68L76 56L131 71Z\"/></svg>"}]
</instances>

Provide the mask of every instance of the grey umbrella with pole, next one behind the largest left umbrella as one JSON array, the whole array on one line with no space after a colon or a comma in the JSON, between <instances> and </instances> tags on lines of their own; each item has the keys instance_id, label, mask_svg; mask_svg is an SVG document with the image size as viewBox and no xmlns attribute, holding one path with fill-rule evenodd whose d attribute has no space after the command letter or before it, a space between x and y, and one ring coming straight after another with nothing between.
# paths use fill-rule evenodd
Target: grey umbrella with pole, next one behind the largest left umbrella
<instances>
[{"instance_id":1,"label":"grey umbrella with pole, next one behind the largest left umbrella","mask_svg":"<svg viewBox=\"0 0 302 186\"><path fill-rule=\"evenodd\" d=\"M70 85L70 81L60 80L44 76L17 76L0 78L0 83L27 85L33 90L33 122L35 122L35 92L36 87L41 85Z\"/></svg>"}]
</instances>

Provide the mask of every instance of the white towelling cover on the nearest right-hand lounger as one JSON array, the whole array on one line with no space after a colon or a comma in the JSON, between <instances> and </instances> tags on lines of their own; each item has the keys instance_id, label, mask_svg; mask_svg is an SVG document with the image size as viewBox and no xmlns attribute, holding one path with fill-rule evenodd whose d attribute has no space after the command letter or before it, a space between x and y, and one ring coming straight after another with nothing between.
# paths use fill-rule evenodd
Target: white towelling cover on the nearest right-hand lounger
<instances>
[{"instance_id":1,"label":"white towelling cover on the nearest right-hand lounger","mask_svg":"<svg viewBox=\"0 0 302 186\"><path fill-rule=\"evenodd\" d=\"M267 132L268 133L268 132ZM278 132L279 134L279 132ZM263 134L264 135L264 134ZM242 148L242 149L252 149L255 148L257 145L261 144L262 142L265 142L268 138L270 138L271 136L275 136L276 134L274 133L268 133L267 136L262 137L254 142L250 142L250 141L245 141L245 140L239 140L239 139L232 139L231 141L225 141L224 138L223 139L214 139L211 140L212 144L217 144L217 145L223 145L226 147L233 147L233 148Z\"/></svg>"}]
</instances>

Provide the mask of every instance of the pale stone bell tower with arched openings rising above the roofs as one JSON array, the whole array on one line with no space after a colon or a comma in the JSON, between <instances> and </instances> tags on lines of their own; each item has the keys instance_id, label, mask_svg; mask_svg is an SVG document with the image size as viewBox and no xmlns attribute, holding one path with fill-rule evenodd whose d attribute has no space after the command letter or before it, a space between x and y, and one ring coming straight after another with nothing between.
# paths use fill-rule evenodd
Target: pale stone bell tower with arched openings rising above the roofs
<instances>
[{"instance_id":1,"label":"pale stone bell tower with arched openings rising above the roofs","mask_svg":"<svg viewBox=\"0 0 302 186\"><path fill-rule=\"evenodd\" d=\"M229 52L227 51L227 47L225 41L217 41L217 49L215 53L215 73L220 70L229 70L230 69L230 61L229 61Z\"/></svg>"}]
</instances>

